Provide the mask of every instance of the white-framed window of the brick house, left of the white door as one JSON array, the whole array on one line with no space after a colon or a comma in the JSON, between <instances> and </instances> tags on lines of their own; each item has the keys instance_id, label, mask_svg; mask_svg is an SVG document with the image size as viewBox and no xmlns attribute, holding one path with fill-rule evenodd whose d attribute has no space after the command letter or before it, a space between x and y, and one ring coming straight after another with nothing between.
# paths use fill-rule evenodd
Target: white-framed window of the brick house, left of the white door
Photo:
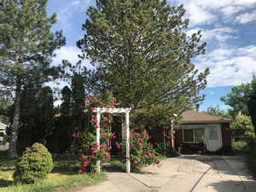
<instances>
[{"instance_id":1,"label":"white-framed window of the brick house, left of the white door","mask_svg":"<svg viewBox=\"0 0 256 192\"><path fill-rule=\"evenodd\" d=\"M205 137L204 129L183 129L184 143L203 143Z\"/></svg>"}]
</instances>

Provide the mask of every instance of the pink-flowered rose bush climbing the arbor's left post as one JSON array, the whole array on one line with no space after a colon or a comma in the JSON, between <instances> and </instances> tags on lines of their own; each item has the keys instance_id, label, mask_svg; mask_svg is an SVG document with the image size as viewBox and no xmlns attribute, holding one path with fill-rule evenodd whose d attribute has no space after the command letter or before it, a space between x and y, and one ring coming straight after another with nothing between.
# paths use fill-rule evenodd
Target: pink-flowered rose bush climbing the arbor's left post
<instances>
[{"instance_id":1,"label":"pink-flowered rose bush climbing the arbor's left post","mask_svg":"<svg viewBox=\"0 0 256 192\"><path fill-rule=\"evenodd\" d=\"M116 99L113 97L113 91L111 90L106 91L104 96L89 96L85 100L85 109L88 110L87 113L90 115L90 127L73 133L73 137L75 137L73 151L79 154L79 161L81 162L79 173L95 172L97 160L104 162L110 158L109 150L111 150L111 147L109 141L112 137L115 137L109 129L113 117L108 113L103 113L101 115L102 124L98 127L93 110L97 107L113 108L116 104ZM96 143L96 129L101 129L100 146Z\"/></svg>"}]
</instances>

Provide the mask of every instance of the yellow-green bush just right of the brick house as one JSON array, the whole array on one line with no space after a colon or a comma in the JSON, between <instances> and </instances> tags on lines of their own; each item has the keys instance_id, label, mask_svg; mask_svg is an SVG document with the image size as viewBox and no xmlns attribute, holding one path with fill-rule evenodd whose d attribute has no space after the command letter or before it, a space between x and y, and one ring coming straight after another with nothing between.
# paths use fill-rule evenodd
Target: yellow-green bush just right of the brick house
<instances>
[{"instance_id":1,"label":"yellow-green bush just right of the brick house","mask_svg":"<svg viewBox=\"0 0 256 192\"><path fill-rule=\"evenodd\" d=\"M252 119L248 116L237 116L231 123L233 137L254 137Z\"/></svg>"}]
</instances>

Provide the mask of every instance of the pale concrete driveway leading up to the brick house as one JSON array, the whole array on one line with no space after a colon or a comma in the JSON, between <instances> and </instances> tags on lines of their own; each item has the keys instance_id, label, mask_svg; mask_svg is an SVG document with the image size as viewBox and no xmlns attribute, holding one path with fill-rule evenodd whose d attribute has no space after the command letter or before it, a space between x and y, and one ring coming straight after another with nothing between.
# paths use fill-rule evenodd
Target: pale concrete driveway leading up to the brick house
<instances>
[{"instance_id":1,"label":"pale concrete driveway leading up to the brick house","mask_svg":"<svg viewBox=\"0 0 256 192\"><path fill-rule=\"evenodd\" d=\"M143 173L108 172L108 181L79 192L256 192L246 158L184 155Z\"/></svg>"}]
</instances>

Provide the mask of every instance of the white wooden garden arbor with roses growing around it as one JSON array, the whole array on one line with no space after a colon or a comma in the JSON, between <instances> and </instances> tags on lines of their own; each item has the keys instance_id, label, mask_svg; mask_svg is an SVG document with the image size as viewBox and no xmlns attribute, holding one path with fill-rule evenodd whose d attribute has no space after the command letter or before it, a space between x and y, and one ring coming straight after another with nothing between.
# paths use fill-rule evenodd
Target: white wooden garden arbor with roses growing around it
<instances>
[{"instance_id":1,"label":"white wooden garden arbor with roses growing around it","mask_svg":"<svg viewBox=\"0 0 256 192\"><path fill-rule=\"evenodd\" d=\"M130 127L129 127L129 113L131 108L95 108L93 112L96 113L97 127L101 127L101 114L102 113L125 113L125 148L126 148L126 172L130 172ZM100 149L100 137L101 129L96 129L96 146L97 149ZM101 161L97 160L96 162L96 172L101 172Z\"/></svg>"}]
</instances>

